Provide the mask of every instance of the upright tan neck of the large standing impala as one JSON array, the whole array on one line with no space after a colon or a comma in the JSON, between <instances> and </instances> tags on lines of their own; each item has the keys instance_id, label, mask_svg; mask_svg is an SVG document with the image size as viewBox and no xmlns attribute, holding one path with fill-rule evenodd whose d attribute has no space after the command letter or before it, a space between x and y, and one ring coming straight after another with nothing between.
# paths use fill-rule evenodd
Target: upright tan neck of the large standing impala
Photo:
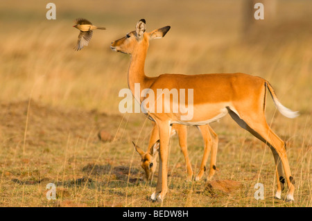
<instances>
[{"instance_id":1,"label":"upright tan neck of the large standing impala","mask_svg":"<svg viewBox=\"0 0 312 221\"><path fill-rule=\"evenodd\" d=\"M135 94L135 84L140 84L140 91L148 87L148 77L144 73L144 64L146 59L146 53L148 51L148 42L141 42L135 51L131 55L130 66L128 70L128 86L132 92L132 95L135 96L137 100L137 94ZM140 96L139 94L139 96Z\"/></svg>"}]
</instances>

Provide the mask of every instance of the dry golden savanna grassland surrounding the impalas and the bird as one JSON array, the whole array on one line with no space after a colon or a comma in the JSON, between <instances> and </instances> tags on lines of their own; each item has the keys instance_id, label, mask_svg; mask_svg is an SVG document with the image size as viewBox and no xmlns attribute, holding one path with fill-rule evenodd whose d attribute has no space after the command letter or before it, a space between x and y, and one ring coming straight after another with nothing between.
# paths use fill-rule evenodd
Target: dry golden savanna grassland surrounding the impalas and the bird
<instances>
[{"instance_id":1,"label":"dry golden savanna grassland surrounding the impalas and the bird","mask_svg":"<svg viewBox=\"0 0 312 221\"><path fill-rule=\"evenodd\" d=\"M46 3L0 3L0 206L312 205L311 2L278 1L275 18L249 33L243 33L243 1L55 0L56 20L46 19ZM78 52L78 30L71 27L76 17L107 28L94 31ZM267 121L287 142L295 202L274 199L270 149L229 116L211 123L219 136L214 179L232 179L241 188L211 195L205 179L187 182L174 136L166 199L148 200L157 174L152 182L143 179L132 141L146 150L151 125L143 114L119 112L130 57L110 50L110 42L141 18L148 31L171 25L164 39L150 43L149 76L250 73L270 81L281 103L300 111L285 118L267 98ZM203 143L195 127L189 127L188 144L196 173ZM46 199L48 183L56 185L57 200ZM264 200L254 199L257 183L264 185Z\"/></svg>"}]
</instances>

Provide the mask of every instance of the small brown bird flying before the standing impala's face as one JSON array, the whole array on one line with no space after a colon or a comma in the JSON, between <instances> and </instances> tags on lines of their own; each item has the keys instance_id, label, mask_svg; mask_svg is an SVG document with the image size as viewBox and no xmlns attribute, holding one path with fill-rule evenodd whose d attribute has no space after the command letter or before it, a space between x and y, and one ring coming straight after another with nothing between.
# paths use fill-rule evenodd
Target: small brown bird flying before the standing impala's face
<instances>
[{"instance_id":1,"label":"small brown bird flying before the standing impala's face","mask_svg":"<svg viewBox=\"0 0 312 221\"><path fill-rule=\"evenodd\" d=\"M76 25L73 27L78 28L80 30L80 34L78 36L78 42L76 44L75 50L79 51L83 49L84 46L89 44L89 41L93 35L93 30L102 29L105 30L106 28L94 26L90 21L87 19L78 18L75 20Z\"/></svg>"}]
</instances>

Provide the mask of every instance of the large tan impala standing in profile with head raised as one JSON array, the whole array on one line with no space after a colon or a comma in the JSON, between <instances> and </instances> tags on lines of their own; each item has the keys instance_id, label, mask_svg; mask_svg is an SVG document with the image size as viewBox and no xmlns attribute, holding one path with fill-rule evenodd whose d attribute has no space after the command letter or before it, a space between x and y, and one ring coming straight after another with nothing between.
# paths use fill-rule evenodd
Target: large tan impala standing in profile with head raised
<instances>
[{"instance_id":1,"label":"large tan impala standing in profile with head raised","mask_svg":"<svg viewBox=\"0 0 312 221\"><path fill-rule=\"evenodd\" d=\"M128 85L135 99L143 103L147 96L136 96L135 84L141 85L141 90L150 89L176 89L180 95L182 89L193 89L193 118L182 120L182 112L173 112L174 100L170 98L169 105L163 105L169 112L155 112L153 108L157 103L164 104L164 96L155 97L154 103L149 106L148 117L153 119L159 130L159 174L155 192L151 195L152 200L164 200L167 193L167 163L168 144L171 134L171 125L206 125L217 121L227 113L243 129L266 143L272 150L277 166L276 175L277 193L275 197L281 198L281 190L284 188L285 178L288 184L287 200L294 200L295 180L291 176L291 169L286 155L286 143L277 134L272 132L265 117L267 90L270 92L275 106L288 118L295 118L298 114L281 105L275 91L267 80L245 73L218 73L218 74L162 74L155 78L145 75L144 63L148 51L150 39L162 38L170 26L165 26L146 32L146 21L141 19L137 22L136 30L127 33L125 37L112 42L112 50L131 55L128 69ZM165 96L166 98L166 96ZM167 98L168 99L168 98ZM189 99L189 96L187 97ZM167 100L168 101L168 100ZM176 101L176 100L175 100ZM178 103L178 105L185 105ZM282 168L284 167L285 178Z\"/></svg>"}]
</instances>

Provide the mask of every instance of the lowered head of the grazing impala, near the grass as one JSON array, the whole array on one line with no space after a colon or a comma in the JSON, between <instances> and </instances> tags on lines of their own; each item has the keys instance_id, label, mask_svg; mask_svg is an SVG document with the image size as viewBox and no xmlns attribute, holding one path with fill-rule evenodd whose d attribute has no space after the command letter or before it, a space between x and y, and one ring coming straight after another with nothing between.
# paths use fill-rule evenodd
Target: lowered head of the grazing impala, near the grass
<instances>
[{"instance_id":1,"label":"lowered head of the grazing impala, near the grass","mask_svg":"<svg viewBox=\"0 0 312 221\"><path fill-rule=\"evenodd\" d=\"M133 142L132 142L133 143ZM133 143L135 145L135 143ZM135 150L140 154L141 156L141 167L145 171L146 179L150 180L152 179L156 166L157 166L157 154L159 152L159 140L156 141L156 143L153 144L152 147L147 152L144 152L139 148L137 145L135 145Z\"/></svg>"}]
</instances>

